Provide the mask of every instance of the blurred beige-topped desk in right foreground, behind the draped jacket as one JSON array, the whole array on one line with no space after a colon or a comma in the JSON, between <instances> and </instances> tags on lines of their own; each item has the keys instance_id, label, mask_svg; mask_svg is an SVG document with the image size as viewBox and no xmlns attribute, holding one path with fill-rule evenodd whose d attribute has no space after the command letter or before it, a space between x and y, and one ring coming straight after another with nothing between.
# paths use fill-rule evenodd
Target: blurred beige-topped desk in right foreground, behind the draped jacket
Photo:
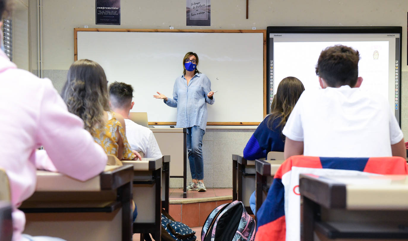
<instances>
[{"instance_id":1,"label":"blurred beige-topped desk in right foreground, behind the draped jacket","mask_svg":"<svg viewBox=\"0 0 408 241\"><path fill-rule=\"evenodd\" d=\"M300 175L301 240L408 240L408 178Z\"/></svg>"}]
</instances>

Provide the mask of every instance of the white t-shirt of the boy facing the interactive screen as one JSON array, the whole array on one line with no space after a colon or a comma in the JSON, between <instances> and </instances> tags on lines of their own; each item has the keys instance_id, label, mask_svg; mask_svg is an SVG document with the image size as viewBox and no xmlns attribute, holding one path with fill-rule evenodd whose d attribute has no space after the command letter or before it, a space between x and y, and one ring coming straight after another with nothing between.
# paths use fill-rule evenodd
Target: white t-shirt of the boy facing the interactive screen
<instances>
[{"instance_id":1,"label":"white t-shirt of the boy facing the interactive screen","mask_svg":"<svg viewBox=\"0 0 408 241\"><path fill-rule=\"evenodd\" d=\"M282 133L319 157L392 156L403 138L386 99L348 85L304 91Z\"/></svg>"}]
</instances>

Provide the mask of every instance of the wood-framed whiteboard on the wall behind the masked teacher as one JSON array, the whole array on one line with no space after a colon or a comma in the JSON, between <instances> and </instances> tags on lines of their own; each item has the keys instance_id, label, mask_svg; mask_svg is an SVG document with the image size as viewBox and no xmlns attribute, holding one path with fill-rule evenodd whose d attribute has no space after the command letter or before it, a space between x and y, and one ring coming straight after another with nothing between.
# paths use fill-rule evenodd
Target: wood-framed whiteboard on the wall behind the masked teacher
<instances>
[{"instance_id":1,"label":"wood-framed whiteboard on the wall behind the masked teacher","mask_svg":"<svg viewBox=\"0 0 408 241\"><path fill-rule=\"evenodd\" d=\"M215 103L208 122L261 122L264 117L264 34L198 32L120 32L86 29L77 33L78 60L98 62L109 84L135 89L131 111L147 112L149 122L175 122L177 108L153 98L173 97L183 57L197 53L197 69L211 80ZM166 123L168 124L168 123Z\"/></svg>"}]
</instances>

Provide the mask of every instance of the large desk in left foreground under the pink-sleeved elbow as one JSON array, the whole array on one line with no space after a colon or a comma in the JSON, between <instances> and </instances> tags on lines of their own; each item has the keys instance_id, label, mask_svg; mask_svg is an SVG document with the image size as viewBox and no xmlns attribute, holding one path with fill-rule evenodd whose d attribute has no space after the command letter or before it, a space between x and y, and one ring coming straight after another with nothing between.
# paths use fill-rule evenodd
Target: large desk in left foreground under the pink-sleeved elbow
<instances>
[{"instance_id":1,"label":"large desk in left foreground under the pink-sleeved elbow","mask_svg":"<svg viewBox=\"0 0 408 241\"><path fill-rule=\"evenodd\" d=\"M99 176L84 182L37 171L36 190L20 207L26 214L24 233L78 241L129 241L132 179L130 165L106 166Z\"/></svg>"}]
</instances>

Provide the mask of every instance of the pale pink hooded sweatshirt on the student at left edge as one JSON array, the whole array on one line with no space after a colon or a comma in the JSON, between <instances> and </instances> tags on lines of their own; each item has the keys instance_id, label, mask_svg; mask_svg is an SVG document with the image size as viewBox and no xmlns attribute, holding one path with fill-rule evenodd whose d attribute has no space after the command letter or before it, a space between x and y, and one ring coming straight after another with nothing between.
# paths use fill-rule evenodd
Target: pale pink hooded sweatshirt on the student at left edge
<instances>
[{"instance_id":1,"label":"pale pink hooded sweatshirt on the student at left edge","mask_svg":"<svg viewBox=\"0 0 408 241\"><path fill-rule=\"evenodd\" d=\"M82 120L68 112L51 81L17 69L2 51L0 137L0 168L6 170L11 188L13 241L19 241L24 230L25 216L17 208L35 190L36 166L56 168L84 181L102 172L107 161L102 147L84 130ZM47 153L37 151L40 146Z\"/></svg>"}]
</instances>

